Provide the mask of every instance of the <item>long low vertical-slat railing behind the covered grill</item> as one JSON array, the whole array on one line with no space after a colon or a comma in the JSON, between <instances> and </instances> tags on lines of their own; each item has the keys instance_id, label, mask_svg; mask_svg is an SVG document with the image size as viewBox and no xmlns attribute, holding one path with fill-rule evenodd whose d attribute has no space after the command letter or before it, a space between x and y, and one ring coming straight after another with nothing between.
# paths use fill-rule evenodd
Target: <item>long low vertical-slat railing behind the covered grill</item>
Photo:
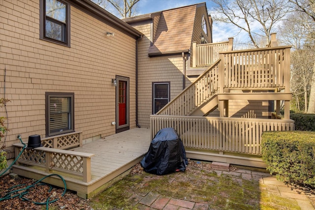
<instances>
[{"instance_id":1,"label":"long low vertical-slat railing behind the covered grill","mask_svg":"<svg viewBox=\"0 0 315 210\"><path fill-rule=\"evenodd\" d=\"M151 115L151 139L173 127L186 148L261 155L263 131L294 130L293 120Z\"/></svg>"}]
</instances>

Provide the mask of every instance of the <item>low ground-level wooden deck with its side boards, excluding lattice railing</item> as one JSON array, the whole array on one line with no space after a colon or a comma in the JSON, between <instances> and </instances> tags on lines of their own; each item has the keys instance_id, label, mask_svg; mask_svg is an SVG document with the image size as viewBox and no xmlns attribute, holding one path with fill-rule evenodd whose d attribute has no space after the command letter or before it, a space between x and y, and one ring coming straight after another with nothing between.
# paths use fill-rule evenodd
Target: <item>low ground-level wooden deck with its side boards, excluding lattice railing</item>
<instances>
[{"instance_id":1,"label":"low ground-level wooden deck with its side boards, excluding lattice railing","mask_svg":"<svg viewBox=\"0 0 315 210\"><path fill-rule=\"evenodd\" d=\"M67 189L76 191L82 198L91 198L126 176L130 168L141 161L150 147L150 138L150 129L134 128L70 149L95 154L91 157L92 180L84 182L76 176L58 174L63 176ZM48 175L36 166L14 165L12 169L13 173L35 180ZM58 177L49 177L43 181L63 187Z\"/></svg>"}]
</instances>

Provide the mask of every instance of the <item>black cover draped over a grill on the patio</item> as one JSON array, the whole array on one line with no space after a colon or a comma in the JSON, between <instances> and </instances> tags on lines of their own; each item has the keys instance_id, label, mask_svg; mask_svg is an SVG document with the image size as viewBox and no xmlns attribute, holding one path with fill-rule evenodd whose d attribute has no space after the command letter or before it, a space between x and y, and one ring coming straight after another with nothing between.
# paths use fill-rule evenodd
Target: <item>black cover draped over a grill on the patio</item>
<instances>
[{"instance_id":1,"label":"black cover draped over a grill on the patio","mask_svg":"<svg viewBox=\"0 0 315 210\"><path fill-rule=\"evenodd\" d=\"M182 140L174 128L158 131L148 153L141 160L145 172L157 175L185 171L188 165Z\"/></svg>"}]
</instances>

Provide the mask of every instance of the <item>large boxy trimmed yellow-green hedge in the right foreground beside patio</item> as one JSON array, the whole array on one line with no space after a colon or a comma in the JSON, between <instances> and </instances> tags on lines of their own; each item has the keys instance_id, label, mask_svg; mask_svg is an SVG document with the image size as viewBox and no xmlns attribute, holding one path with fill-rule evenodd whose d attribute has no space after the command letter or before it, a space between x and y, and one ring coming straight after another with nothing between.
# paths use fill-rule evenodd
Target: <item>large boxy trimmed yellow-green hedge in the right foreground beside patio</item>
<instances>
[{"instance_id":1,"label":"large boxy trimmed yellow-green hedge in the right foreground beside patio","mask_svg":"<svg viewBox=\"0 0 315 210\"><path fill-rule=\"evenodd\" d=\"M315 132L263 132L261 147L267 169L279 180L315 187Z\"/></svg>"}]
</instances>

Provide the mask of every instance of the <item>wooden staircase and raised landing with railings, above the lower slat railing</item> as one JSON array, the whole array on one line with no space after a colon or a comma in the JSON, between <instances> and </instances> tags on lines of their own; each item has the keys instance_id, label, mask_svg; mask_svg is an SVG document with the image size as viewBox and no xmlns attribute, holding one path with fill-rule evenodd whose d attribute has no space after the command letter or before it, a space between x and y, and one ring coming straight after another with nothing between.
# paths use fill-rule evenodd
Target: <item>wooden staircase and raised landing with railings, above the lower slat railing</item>
<instances>
[{"instance_id":1,"label":"wooden staircase and raised landing with railings, above the lower slat railing","mask_svg":"<svg viewBox=\"0 0 315 210\"><path fill-rule=\"evenodd\" d=\"M207 116L219 107L228 117L229 100L284 100L289 119L290 47L228 51L203 72L189 87L165 105L157 115ZM235 92L234 90L241 90Z\"/></svg>"}]
</instances>

